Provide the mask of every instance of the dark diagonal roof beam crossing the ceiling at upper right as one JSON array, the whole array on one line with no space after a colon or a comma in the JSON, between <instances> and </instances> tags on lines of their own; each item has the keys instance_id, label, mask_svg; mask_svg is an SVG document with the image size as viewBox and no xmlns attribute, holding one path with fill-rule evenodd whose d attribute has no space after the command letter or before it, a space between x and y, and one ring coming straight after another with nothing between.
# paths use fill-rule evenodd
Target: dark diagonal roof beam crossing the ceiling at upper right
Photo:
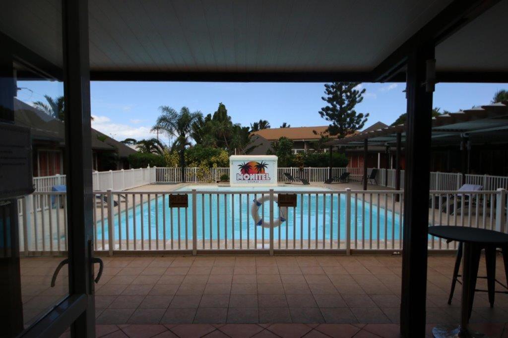
<instances>
[{"instance_id":1,"label":"dark diagonal roof beam crossing the ceiling at upper right","mask_svg":"<svg viewBox=\"0 0 508 338\"><path fill-rule=\"evenodd\" d=\"M397 73L400 73L406 64L409 50L414 48L414 46L427 43L433 44L434 46L439 44L499 1L500 0L454 0L375 67L372 72L374 81L386 82ZM482 73L478 73L478 75L481 79ZM482 80L479 82L484 81Z\"/></svg>"}]
</instances>

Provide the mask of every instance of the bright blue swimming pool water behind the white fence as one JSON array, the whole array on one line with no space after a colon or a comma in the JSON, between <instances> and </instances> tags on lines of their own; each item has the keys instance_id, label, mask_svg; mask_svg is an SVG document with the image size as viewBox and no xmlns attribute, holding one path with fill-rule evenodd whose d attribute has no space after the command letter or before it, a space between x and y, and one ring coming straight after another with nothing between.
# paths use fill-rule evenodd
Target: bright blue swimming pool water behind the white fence
<instances>
[{"instance_id":1,"label":"bright blue swimming pool water behind the white fence","mask_svg":"<svg viewBox=\"0 0 508 338\"><path fill-rule=\"evenodd\" d=\"M204 193L198 193L196 198L196 221L197 221L197 238L209 240L216 240L217 238L224 239L225 233L227 238L240 239L240 228L242 239L253 239L255 234L258 239L268 239L269 229L257 226L250 214L250 207L253 203L255 195L249 191L266 191L268 194L269 188L259 188L255 190L244 187L217 187L217 186L184 186L178 191L190 191L196 189ZM296 209L288 208L285 221L279 227L274 229L274 239L285 240L286 238L293 240L322 240L325 238L329 240L345 239L346 234L346 196L344 193L340 194L309 194L307 191L329 191L326 188L319 187L303 187L296 185L280 186L274 189L276 191L293 191L297 193L297 207ZM206 191L206 192L205 192ZM231 191L235 194L216 194L217 191ZM238 194L238 191L244 193ZM151 196L152 198L154 195ZM261 194L256 197L261 198ZM366 201L363 203L361 200L362 195L358 194L356 199L354 195L351 198L351 238L357 240L398 240L400 239L400 215L395 215L385 210L382 206L372 204L372 208ZM129 195L129 198L132 198ZM376 199L375 197L373 197ZM145 197L146 199L146 197ZM316 202L317 200L317 202ZM139 204L139 195L136 196L136 202ZM168 207L168 196L163 199L159 195L157 200L152 199L149 203L144 202L143 206L138 205L133 213L133 208L127 212L122 211L120 217L114 215L114 231L115 239L119 237L119 224L121 224L121 239L126 239L127 233L130 240L134 239L134 224L136 224L136 239L141 239L141 229L143 228L143 238L153 240L158 233L158 239L164 238L164 231L166 232L166 239L177 240L185 239L185 232L187 238L192 239L192 210L193 200L192 195L188 197L189 207L185 210L183 208L171 209ZM376 200L373 201L374 203ZM218 208L217 208L218 206ZM264 207L264 220L269 222L270 204L266 201ZM263 207L260 207L259 214L263 216ZM116 208L115 208L116 211ZM136 216L134 217L135 214ZM279 210L275 204L274 219L278 218ZM97 238L102 239L103 231L100 217L97 224ZM156 219L158 225L156 225ZM178 223L178 219L180 223ZM165 222L164 222L165 220ZM171 222L172 221L172 222ZM107 219L104 221L104 236L108 238L108 224ZM143 223L143 225L141 224ZM165 228L164 228L165 223ZM172 223L172 224L171 224ZM178 226L180 224L180 226ZM340 224L340 225L339 225ZM280 231L279 231L280 228ZM287 234L286 234L287 233ZM218 235L217 235L218 234Z\"/></svg>"}]
</instances>

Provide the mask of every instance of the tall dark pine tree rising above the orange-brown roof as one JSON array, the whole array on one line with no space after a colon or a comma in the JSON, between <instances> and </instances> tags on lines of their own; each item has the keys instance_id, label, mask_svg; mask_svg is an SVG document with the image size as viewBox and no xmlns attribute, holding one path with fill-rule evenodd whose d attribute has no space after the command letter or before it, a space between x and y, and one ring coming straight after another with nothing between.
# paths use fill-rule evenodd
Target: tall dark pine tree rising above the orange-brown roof
<instances>
[{"instance_id":1,"label":"tall dark pine tree rising above the orange-brown roof","mask_svg":"<svg viewBox=\"0 0 508 338\"><path fill-rule=\"evenodd\" d=\"M330 136L343 139L358 129L362 129L369 114L357 113L355 106L362 102L365 88L359 90L359 82L332 82L325 84L326 97L321 97L328 106L321 108L319 114L330 121Z\"/></svg>"}]
</instances>

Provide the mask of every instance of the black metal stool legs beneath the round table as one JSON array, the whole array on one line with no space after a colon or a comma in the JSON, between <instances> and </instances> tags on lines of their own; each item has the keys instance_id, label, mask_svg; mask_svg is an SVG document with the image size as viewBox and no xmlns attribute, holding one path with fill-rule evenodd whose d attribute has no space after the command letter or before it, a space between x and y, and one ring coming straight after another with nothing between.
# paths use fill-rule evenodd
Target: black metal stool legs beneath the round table
<instances>
[{"instance_id":1,"label":"black metal stool legs beneath the round table","mask_svg":"<svg viewBox=\"0 0 508 338\"><path fill-rule=\"evenodd\" d=\"M452 241L447 241L447 243L450 243ZM508 246L501 246L499 247L501 254L503 255L503 262L504 262L504 274L506 276L506 284L508 284ZM460 262L462 260L462 242L459 242L459 246L457 248L457 258L455 259L455 267L453 270L453 278L452 278L452 288L450 289L450 297L448 298L448 304L452 303L453 293L455 291L455 285L458 282L462 285L462 282L459 281L458 277L462 277L462 275L459 275L459 267ZM508 290L508 286L505 284L502 284L500 281L496 279L496 250L491 249L485 249L485 265L487 267L487 276L478 276L477 278L483 278L487 279L487 290L482 289L474 289L474 291L479 292L488 292L489 293L489 303L490 307L494 307L494 295L495 293L507 293L508 291L495 291L495 283L498 283L502 287Z\"/></svg>"}]
</instances>

